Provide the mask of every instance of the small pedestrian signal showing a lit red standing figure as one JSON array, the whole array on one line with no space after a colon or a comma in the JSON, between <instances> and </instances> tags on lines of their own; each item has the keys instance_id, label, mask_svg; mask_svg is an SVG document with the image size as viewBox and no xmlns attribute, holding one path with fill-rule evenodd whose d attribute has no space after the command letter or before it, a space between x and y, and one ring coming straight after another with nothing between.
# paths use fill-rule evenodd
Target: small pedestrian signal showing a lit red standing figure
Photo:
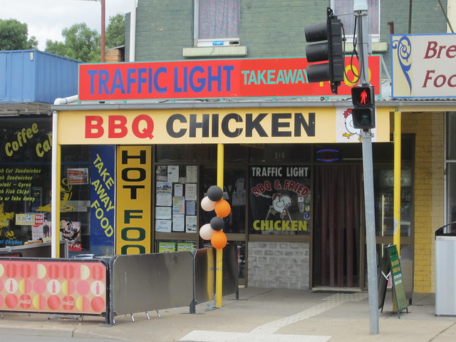
<instances>
[{"instance_id":1,"label":"small pedestrian signal showing a lit red standing figure","mask_svg":"<svg viewBox=\"0 0 456 342\"><path fill-rule=\"evenodd\" d=\"M351 88L353 110L353 127L375 128L375 92L373 86L358 86Z\"/></svg>"}]
</instances>

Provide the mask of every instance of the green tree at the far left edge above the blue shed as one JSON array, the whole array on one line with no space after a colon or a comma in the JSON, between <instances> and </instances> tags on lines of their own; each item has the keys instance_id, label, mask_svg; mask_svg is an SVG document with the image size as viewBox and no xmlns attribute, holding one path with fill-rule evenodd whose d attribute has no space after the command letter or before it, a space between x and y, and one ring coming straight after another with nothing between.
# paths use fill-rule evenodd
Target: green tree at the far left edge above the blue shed
<instances>
[{"instance_id":1,"label":"green tree at the far left edge above the blue shed","mask_svg":"<svg viewBox=\"0 0 456 342\"><path fill-rule=\"evenodd\" d=\"M28 50L38 47L35 36L28 37L28 26L16 19L0 19L0 50Z\"/></svg>"}]
</instances>

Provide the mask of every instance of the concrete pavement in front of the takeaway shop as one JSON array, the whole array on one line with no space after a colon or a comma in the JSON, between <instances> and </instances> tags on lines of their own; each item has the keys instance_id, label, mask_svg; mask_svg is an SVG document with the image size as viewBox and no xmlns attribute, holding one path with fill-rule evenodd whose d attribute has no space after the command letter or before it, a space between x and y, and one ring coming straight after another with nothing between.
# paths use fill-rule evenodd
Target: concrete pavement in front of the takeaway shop
<instances>
[{"instance_id":1,"label":"concrete pavement in front of the takeaway shop","mask_svg":"<svg viewBox=\"0 0 456 342\"><path fill-rule=\"evenodd\" d=\"M223 298L221 308L214 301L189 308L167 309L145 314L115 317L105 326L102 317L48 319L46 314L4 313L1 336L33 335L73 338L112 338L131 342L347 342L456 341L456 317L435 316L435 295L414 294L413 304L398 314L392 312L390 291L383 312L379 311L378 335L370 333L367 292L240 288Z\"/></svg>"}]
</instances>

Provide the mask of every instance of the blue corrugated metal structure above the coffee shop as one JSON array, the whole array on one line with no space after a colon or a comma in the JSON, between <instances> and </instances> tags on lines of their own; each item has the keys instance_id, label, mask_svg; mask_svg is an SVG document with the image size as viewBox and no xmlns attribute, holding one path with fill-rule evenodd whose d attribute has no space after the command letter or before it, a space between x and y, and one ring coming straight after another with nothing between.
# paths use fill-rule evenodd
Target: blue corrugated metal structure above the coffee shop
<instances>
[{"instance_id":1,"label":"blue corrugated metal structure above the coffee shop","mask_svg":"<svg viewBox=\"0 0 456 342\"><path fill-rule=\"evenodd\" d=\"M54 103L78 94L78 64L38 50L0 51L0 103Z\"/></svg>"}]
</instances>

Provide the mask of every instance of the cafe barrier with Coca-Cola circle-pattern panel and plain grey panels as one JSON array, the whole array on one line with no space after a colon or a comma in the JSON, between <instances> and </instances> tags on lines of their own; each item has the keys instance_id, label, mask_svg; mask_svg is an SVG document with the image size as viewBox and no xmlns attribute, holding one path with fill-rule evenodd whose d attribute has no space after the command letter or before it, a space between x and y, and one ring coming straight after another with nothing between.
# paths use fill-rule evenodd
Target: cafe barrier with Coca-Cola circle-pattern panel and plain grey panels
<instances>
[{"instance_id":1,"label":"cafe barrier with Coca-Cola circle-pattern panel and plain grey panels","mask_svg":"<svg viewBox=\"0 0 456 342\"><path fill-rule=\"evenodd\" d=\"M223 250L223 295L238 296L237 246ZM51 259L0 257L0 311L115 316L214 299L214 249Z\"/></svg>"}]
</instances>

